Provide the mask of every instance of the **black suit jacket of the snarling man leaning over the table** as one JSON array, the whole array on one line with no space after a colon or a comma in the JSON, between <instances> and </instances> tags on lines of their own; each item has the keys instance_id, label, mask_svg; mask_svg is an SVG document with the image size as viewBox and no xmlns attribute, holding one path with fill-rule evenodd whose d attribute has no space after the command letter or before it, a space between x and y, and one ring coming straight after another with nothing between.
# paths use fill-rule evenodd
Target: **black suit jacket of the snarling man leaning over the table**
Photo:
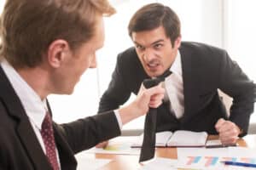
<instances>
[{"instance_id":1,"label":"black suit jacket of the snarling man leaning over the table","mask_svg":"<svg viewBox=\"0 0 256 170\"><path fill-rule=\"evenodd\" d=\"M256 96L255 84L223 49L197 42L182 42L179 52L183 71L184 114L177 120L167 109L167 104L160 105L157 131L186 129L216 134L214 124L218 118L224 117L235 122L246 134ZM112 80L102 95L99 112L123 105L131 93L138 93L145 78L148 76L135 48L128 48L119 54ZM233 98L229 118L219 99L218 88Z\"/></svg>"}]
</instances>

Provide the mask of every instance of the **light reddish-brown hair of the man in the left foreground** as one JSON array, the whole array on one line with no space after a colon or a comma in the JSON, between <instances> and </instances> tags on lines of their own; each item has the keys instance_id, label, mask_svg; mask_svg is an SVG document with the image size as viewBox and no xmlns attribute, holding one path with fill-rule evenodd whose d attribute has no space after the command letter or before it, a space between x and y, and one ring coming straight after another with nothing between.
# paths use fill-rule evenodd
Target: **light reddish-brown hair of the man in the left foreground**
<instances>
[{"instance_id":1,"label":"light reddish-brown hair of the man in the left foreground","mask_svg":"<svg viewBox=\"0 0 256 170\"><path fill-rule=\"evenodd\" d=\"M74 50L94 35L96 14L113 13L108 0L7 0L0 55L15 67L34 67L51 42L64 39Z\"/></svg>"}]
</instances>

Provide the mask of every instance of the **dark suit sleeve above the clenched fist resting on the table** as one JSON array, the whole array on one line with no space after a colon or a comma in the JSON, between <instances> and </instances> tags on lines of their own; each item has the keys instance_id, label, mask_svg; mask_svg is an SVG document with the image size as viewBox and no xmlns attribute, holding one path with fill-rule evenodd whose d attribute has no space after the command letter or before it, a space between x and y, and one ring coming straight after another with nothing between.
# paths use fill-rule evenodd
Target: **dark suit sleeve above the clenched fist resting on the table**
<instances>
[{"instance_id":1,"label":"dark suit sleeve above the clenched fist resting on the table","mask_svg":"<svg viewBox=\"0 0 256 170\"><path fill-rule=\"evenodd\" d=\"M226 52L220 65L220 89L233 98L230 121L241 128L243 136L247 134L250 115L253 113L256 86Z\"/></svg>"}]
</instances>

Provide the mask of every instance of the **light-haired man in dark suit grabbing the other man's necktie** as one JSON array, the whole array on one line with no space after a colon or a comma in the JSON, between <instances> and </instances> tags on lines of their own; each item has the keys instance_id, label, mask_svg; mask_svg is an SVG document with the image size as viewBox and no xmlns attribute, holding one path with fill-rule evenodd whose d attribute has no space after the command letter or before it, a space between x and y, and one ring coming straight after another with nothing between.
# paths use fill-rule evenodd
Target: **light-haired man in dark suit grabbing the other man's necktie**
<instances>
[{"instance_id":1,"label":"light-haired man in dark suit grabbing the other man's necktie","mask_svg":"<svg viewBox=\"0 0 256 170\"><path fill-rule=\"evenodd\" d=\"M84 71L96 67L102 16L113 13L106 0L7 0L1 17L0 169L76 169L74 154L118 136L123 124L161 104L162 88L141 88L119 110L52 122L47 96L71 94Z\"/></svg>"}]
</instances>

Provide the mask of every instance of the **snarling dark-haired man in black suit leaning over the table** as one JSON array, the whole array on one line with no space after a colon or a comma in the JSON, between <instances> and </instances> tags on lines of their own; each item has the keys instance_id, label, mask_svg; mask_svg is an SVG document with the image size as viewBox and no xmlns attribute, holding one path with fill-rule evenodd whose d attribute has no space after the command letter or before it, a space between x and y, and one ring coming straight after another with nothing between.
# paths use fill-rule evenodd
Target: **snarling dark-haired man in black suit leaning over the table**
<instances>
[{"instance_id":1,"label":"snarling dark-haired man in black suit leaning over the table","mask_svg":"<svg viewBox=\"0 0 256 170\"><path fill-rule=\"evenodd\" d=\"M120 53L99 112L119 108L144 79L166 70L166 96L158 108L157 131L178 129L218 134L224 144L247 134L255 84L224 49L182 42L175 12L151 3L132 16L128 31L135 47ZM233 98L228 116L218 88Z\"/></svg>"}]
</instances>

